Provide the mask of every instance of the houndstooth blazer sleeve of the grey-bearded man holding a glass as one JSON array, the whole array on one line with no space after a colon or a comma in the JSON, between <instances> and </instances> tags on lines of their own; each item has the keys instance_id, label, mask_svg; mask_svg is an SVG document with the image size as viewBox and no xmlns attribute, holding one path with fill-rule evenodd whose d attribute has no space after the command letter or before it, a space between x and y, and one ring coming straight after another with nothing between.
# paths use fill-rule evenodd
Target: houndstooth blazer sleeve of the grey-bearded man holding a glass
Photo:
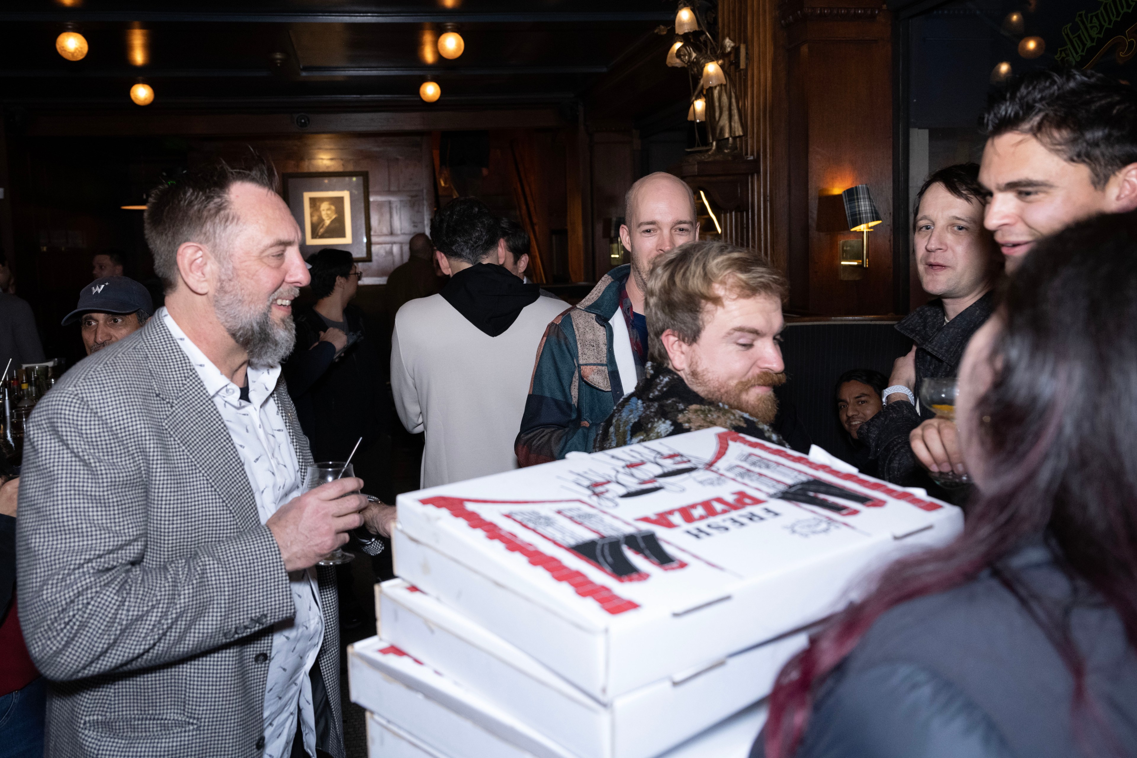
<instances>
[{"instance_id":1,"label":"houndstooth blazer sleeve of the grey-bearded man holding a glass","mask_svg":"<svg viewBox=\"0 0 1137 758\"><path fill-rule=\"evenodd\" d=\"M184 517L192 507L177 481L143 470L141 456L66 388L40 401L28 426L17 582L24 638L44 676L160 666L294 615L266 526L147 561L163 510ZM168 528L164 538L180 539Z\"/></svg>"}]
</instances>

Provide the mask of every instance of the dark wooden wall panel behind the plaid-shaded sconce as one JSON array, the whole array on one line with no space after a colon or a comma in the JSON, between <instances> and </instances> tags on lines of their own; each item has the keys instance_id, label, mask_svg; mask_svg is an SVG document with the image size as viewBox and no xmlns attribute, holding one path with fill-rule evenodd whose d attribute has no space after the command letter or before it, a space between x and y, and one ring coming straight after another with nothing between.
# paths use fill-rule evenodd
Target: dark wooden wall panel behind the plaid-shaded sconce
<instances>
[{"instance_id":1,"label":"dark wooden wall panel behind the plaid-shaded sconce","mask_svg":"<svg viewBox=\"0 0 1137 758\"><path fill-rule=\"evenodd\" d=\"M891 26L879 3L783 3L789 84L791 302L827 316L893 310ZM869 184L883 223L869 234L870 266L839 280L839 234L818 228L820 195ZM808 261L803 294L802 261Z\"/></svg>"}]
</instances>

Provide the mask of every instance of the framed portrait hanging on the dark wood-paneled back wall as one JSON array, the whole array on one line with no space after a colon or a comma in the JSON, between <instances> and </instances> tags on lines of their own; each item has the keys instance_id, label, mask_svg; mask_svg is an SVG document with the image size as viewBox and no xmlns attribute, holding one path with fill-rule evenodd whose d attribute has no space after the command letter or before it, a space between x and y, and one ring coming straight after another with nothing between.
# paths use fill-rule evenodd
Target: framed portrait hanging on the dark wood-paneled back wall
<instances>
[{"instance_id":1,"label":"framed portrait hanging on the dark wood-paneled back wall","mask_svg":"<svg viewBox=\"0 0 1137 758\"><path fill-rule=\"evenodd\" d=\"M305 258L324 248L371 260L371 213L366 172L284 174L284 202L302 235Z\"/></svg>"}]
</instances>

